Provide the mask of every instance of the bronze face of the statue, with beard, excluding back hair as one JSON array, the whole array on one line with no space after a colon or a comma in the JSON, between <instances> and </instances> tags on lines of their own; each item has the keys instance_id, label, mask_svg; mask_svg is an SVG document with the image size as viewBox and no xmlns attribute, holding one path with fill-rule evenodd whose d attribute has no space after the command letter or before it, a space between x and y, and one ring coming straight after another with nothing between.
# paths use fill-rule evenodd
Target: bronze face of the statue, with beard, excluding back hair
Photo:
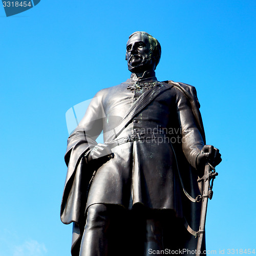
<instances>
[{"instance_id":1,"label":"bronze face of the statue, with beard, excluding back hair","mask_svg":"<svg viewBox=\"0 0 256 256\"><path fill-rule=\"evenodd\" d=\"M151 57L151 45L148 37L142 34L132 36L126 45L128 69L133 73L154 70L155 62Z\"/></svg>"}]
</instances>

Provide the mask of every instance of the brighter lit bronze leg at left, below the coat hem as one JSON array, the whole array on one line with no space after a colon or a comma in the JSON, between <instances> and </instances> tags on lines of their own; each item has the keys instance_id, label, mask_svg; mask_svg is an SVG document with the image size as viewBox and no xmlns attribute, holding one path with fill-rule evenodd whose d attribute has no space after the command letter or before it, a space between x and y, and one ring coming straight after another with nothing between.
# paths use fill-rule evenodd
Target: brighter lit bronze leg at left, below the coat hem
<instances>
[{"instance_id":1,"label":"brighter lit bronze leg at left, below the coat hem","mask_svg":"<svg viewBox=\"0 0 256 256\"><path fill-rule=\"evenodd\" d=\"M93 204L87 211L87 222L84 227L79 256L105 256L108 253L106 230L109 227L109 216L104 204Z\"/></svg>"}]
</instances>

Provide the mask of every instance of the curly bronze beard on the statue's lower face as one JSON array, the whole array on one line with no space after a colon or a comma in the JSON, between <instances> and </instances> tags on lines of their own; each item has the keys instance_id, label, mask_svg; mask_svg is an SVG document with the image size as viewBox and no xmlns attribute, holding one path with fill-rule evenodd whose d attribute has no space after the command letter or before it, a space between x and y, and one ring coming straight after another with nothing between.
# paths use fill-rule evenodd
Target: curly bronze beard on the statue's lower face
<instances>
[{"instance_id":1,"label":"curly bronze beard on the statue's lower face","mask_svg":"<svg viewBox=\"0 0 256 256\"><path fill-rule=\"evenodd\" d=\"M133 58L136 57L137 59L140 59L140 61L135 61L133 63ZM152 64L152 57L151 54L133 54L130 56L129 61L127 62L128 69L131 72L142 72L146 71L148 67Z\"/></svg>"}]
</instances>

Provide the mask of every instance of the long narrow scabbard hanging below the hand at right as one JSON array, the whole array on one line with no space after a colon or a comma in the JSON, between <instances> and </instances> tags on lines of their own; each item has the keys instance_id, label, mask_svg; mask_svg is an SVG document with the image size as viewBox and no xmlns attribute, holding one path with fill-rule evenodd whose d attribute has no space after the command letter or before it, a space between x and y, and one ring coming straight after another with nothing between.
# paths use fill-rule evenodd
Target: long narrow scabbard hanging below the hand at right
<instances>
[{"instance_id":1,"label":"long narrow scabbard hanging below the hand at right","mask_svg":"<svg viewBox=\"0 0 256 256\"><path fill-rule=\"evenodd\" d=\"M200 216L200 226L198 231L198 242L197 242L197 256L201 254L201 247L203 242L203 237L205 234L205 220L206 220L206 212L207 212L207 203L208 203L208 189L209 189L209 174L210 166L208 163L205 164L204 168L204 185L203 185L203 196L202 196L202 208L201 208L201 216Z\"/></svg>"}]
</instances>

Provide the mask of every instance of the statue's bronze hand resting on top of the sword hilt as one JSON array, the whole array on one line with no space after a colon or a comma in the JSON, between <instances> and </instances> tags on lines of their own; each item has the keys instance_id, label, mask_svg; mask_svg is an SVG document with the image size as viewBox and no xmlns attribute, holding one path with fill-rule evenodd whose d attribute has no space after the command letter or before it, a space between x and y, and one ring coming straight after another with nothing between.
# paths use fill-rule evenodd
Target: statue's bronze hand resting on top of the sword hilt
<instances>
[{"instance_id":1,"label":"statue's bronze hand resting on top of the sword hilt","mask_svg":"<svg viewBox=\"0 0 256 256\"><path fill-rule=\"evenodd\" d=\"M222 161L218 148L211 145L204 145L197 156L197 168L201 169L208 162L212 166L218 165Z\"/></svg>"}]
</instances>

